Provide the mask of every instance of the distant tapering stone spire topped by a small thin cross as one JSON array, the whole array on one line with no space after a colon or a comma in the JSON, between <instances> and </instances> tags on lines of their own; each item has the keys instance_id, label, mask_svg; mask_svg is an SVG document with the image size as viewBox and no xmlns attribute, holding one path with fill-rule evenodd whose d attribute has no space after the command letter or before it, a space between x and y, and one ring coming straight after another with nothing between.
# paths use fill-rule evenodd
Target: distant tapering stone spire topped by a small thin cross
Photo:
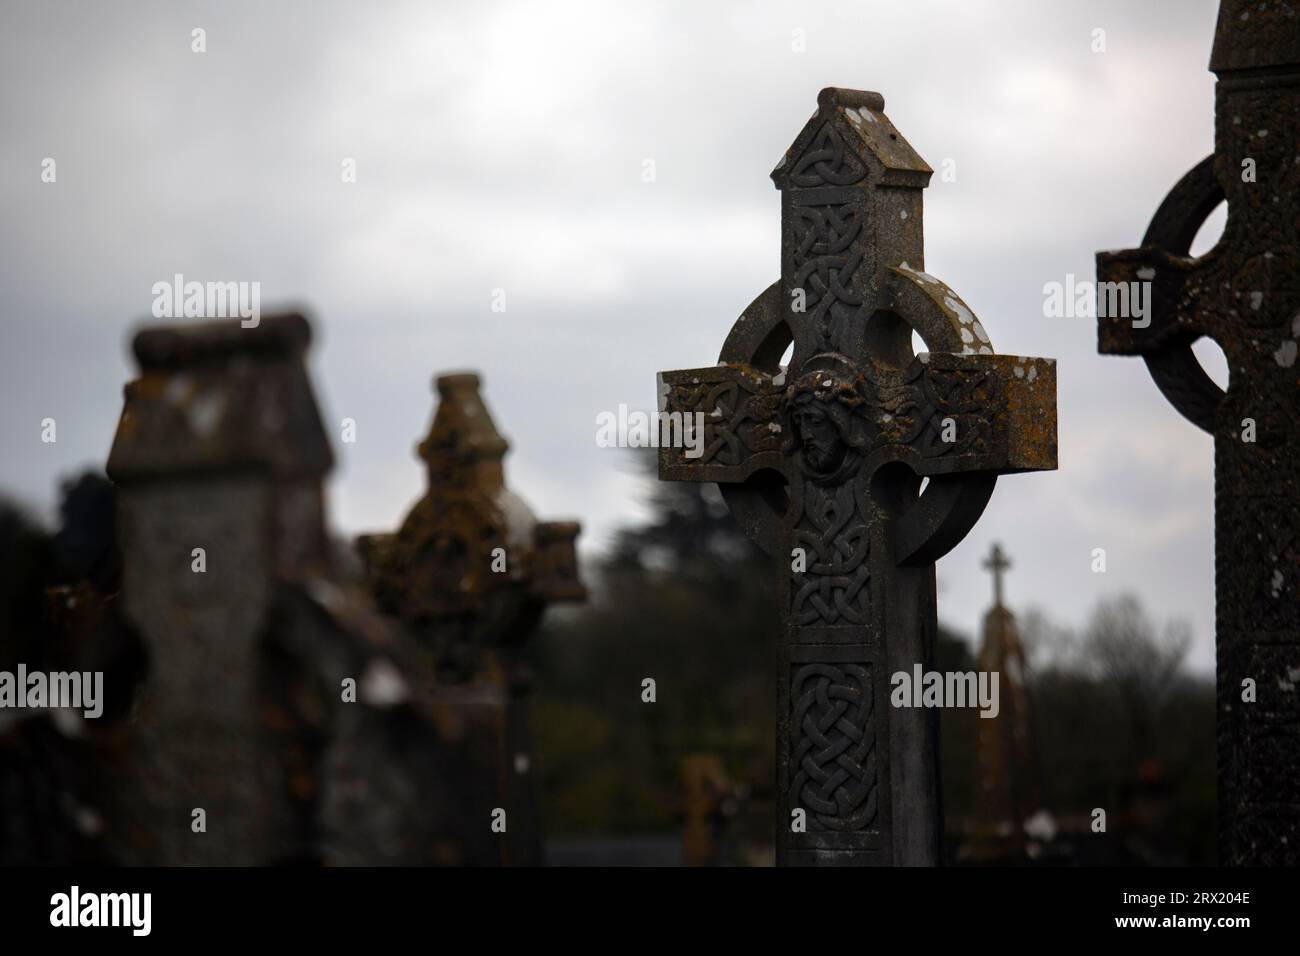
<instances>
[{"instance_id":1,"label":"distant tapering stone spire topped by a small thin cross","mask_svg":"<svg viewBox=\"0 0 1300 956\"><path fill-rule=\"evenodd\" d=\"M984 615L976 666L998 675L998 710L975 722L975 832L967 858L1006 858L1023 852L1024 823L1043 809L1043 787L1024 646L1015 615L1002 604L1002 575L1011 562L1001 545L993 545L984 567L993 575L993 606Z\"/></svg>"}]
</instances>

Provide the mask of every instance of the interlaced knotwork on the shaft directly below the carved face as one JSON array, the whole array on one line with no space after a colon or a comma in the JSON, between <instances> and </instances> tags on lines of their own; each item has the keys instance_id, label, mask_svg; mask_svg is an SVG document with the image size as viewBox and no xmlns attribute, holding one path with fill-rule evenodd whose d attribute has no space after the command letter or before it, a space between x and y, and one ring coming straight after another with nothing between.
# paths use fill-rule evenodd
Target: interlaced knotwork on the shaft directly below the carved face
<instances>
[{"instance_id":1,"label":"interlaced knotwork on the shaft directly below the carved face","mask_svg":"<svg viewBox=\"0 0 1300 956\"><path fill-rule=\"evenodd\" d=\"M871 619L871 532L857 512L852 485L807 483L793 536L805 570L790 578L790 622L866 624Z\"/></svg>"}]
</instances>

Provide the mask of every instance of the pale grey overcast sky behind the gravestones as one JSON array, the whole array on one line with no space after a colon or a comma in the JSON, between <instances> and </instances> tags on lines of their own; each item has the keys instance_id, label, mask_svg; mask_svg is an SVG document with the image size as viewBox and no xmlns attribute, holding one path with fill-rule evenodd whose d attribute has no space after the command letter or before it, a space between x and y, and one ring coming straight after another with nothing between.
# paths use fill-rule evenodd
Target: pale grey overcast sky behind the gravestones
<instances>
[{"instance_id":1,"label":"pale grey overcast sky behind the gravestones","mask_svg":"<svg viewBox=\"0 0 1300 956\"><path fill-rule=\"evenodd\" d=\"M716 360L777 277L768 173L818 90L878 90L933 168L954 161L926 194L928 271L997 351L1058 360L1061 470L998 483L940 562L940 617L976 630L1000 540L1013 607L1079 624L1139 592L1191 622L1209 671L1212 441L1139 360L1096 354L1092 320L1044 317L1043 286L1136 245L1213 150L1214 20L1212 0L5 0L0 489L48 515L60 476L103 464L130 332L179 272L259 281L264 313L313 320L337 529L400 520L432 377L476 368L508 480L580 518L593 553L645 514L597 415Z\"/></svg>"}]
</instances>

